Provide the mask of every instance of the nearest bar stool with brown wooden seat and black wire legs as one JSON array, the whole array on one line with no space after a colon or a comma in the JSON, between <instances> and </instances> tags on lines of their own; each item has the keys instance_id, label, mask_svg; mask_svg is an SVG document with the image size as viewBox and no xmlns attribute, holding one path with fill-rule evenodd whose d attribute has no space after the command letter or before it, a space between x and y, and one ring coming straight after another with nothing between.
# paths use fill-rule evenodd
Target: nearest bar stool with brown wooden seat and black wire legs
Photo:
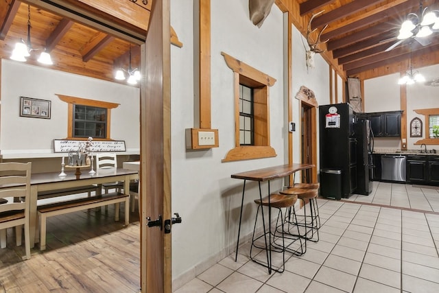
<instances>
[{"instance_id":1,"label":"nearest bar stool with brown wooden seat and black wire legs","mask_svg":"<svg viewBox=\"0 0 439 293\"><path fill-rule=\"evenodd\" d=\"M285 237L284 237L285 231L283 228L285 221L283 220L282 208L294 209L294 204L296 203L296 201L297 201L297 196L286 196L283 194L270 194L270 196L266 196L262 200L260 200L260 199L254 200L254 202L256 204L258 204L258 209L257 209L257 213L256 213L256 220L254 220L252 245L250 246L250 259L252 259L252 261L254 261L255 263L259 263L261 266L265 266L265 268L268 268L269 274L271 274L272 270L275 270L276 272L283 272L285 270L285 250L287 250L287 248L289 246L291 246L294 243L294 241L290 242L289 244L287 244L287 246L285 246ZM269 209L271 209L271 208L278 209L276 228L274 228L274 231L271 231L271 228L269 228L267 231L267 229L265 228L265 221L264 221L263 222L264 233L255 238L254 234L256 231L259 209L261 209L261 213L263 213L262 206L268 207ZM270 218L270 215L271 215L271 213L269 211L269 218ZM270 221L268 224L269 225L271 224ZM281 228L281 231L278 231L278 228ZM267 241L267 236L268 236L268 241ZM262 237L264 237L264 239L265 239L265 246L259 246L257 244L257 240L261 239ZM297 237L296 239L299 240L300 248L302 249L302 240L300 239L300 237ZM280 240L281 240L281 243L279 243ZM255 259L252 256L253 247L266 251L267 263L263 263L259 259ZM283 258L282 259L282 266L277 268L277 269L272 268L272 251L276 252L276 253L282 253L282 258Z\"/></svg>"}]
</instances>

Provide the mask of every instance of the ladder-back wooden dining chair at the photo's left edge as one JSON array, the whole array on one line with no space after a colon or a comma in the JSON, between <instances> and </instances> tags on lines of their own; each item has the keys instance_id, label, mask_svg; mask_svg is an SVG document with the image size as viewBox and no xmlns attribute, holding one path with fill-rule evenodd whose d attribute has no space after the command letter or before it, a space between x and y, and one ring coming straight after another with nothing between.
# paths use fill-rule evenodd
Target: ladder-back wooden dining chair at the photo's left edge
<instances>
[{"instance_id":1,"label":"ladder-back wooden dining chair at the photo's left edge","mask_svg":"<svg viewBox=\"0 0 439 293\"><path fill-rule=\"evenodd\" d=\"M25 259L30 259L29 200L32 163L0 163L0 242L6 246L6 229L15 227L16 246L25 230Z\"/></svg>"}]
</instances>

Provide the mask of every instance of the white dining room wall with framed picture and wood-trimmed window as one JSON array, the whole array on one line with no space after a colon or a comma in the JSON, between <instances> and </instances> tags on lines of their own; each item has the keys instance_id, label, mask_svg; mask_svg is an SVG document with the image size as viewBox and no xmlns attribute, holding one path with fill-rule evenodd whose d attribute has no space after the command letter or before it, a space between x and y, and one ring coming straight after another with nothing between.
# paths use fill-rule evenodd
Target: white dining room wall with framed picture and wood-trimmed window
<instances>
[{"instance_id":1,"label":"white dining room wall with framed picture and wood-trimmed window","mask_svg":"<svg viewBox=\"0 0 439 293\"><path fill-rule=\"evenodd\" d=\"M53 140L67 135L67 103L56 94L115 102L111 134L126 141L127 153L139 153L139 89L133 86L1 60L1 131L3 158L57 156ZM20 97L51 101L51 119L20 117ZM134 113L134 115L133 115Z\"/></svg>"}]
</instances>

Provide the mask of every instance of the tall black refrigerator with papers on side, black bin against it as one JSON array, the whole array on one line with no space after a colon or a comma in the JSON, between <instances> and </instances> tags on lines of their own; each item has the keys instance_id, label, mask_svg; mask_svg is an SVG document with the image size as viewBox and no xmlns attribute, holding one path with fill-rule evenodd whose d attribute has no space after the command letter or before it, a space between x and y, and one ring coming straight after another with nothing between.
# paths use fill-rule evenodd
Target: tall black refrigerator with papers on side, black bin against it
<instances>
[{"instance_id":1,"label":"tall black refrigerator with papers on side, black bin against it","mask_svg":"<svg viewBox=\"0 0 439 293\"><path fill-rule=\"evenodd\" d=\"M321 196L340 200L370 192L365 124L356 124L348 103L319 106Z\"/></svg>"}]
</instances>

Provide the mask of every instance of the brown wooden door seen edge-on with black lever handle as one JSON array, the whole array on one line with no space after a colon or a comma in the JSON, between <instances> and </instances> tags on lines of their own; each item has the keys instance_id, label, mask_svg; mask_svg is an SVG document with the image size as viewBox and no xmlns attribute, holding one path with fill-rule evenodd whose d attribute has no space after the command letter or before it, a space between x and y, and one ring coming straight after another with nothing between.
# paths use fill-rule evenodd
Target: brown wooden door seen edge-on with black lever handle
<instances>
[{"instance_id":1,"label":"brown wooden door seen edge-on with black lever handle","mask_svg":"<svg viewBox=\"0 0 439 293\"><path fill-rule=\"evenodd\" d=\"M154 0L141 82L141 290L171 293L171 42L169 0ZM148 127L150 126L150 127ZM154 127L151 127L154 126ZM148 225L148 226L147 226Z\"/></svg>"}]
</instances>

